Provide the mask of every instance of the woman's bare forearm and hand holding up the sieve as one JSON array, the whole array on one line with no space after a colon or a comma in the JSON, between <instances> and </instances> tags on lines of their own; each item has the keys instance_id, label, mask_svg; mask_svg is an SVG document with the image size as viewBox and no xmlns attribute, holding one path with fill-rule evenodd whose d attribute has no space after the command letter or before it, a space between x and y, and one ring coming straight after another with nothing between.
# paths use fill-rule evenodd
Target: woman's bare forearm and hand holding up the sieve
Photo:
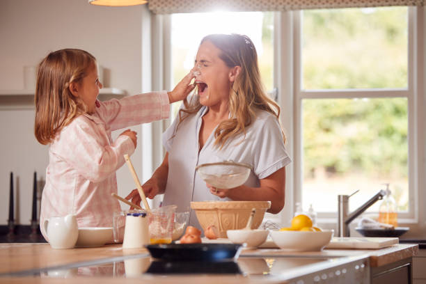
<instances>
[{"instance_id":1,"label":"woman's bare forearm and hand holding up the sieve","mask_svg":"<svg viewBox=\"0 0 426 284\"><path fill-rule=\"evenodd\" d=\"M266 178L260 180L260 187L235 187L233 189L216 189L207 184L210 192L221 198L228 197L232 200L271 201L271 208L267 212L276 214L280 212L285 203L285 167L280 168Z\"/></svg>"}]
</instances>

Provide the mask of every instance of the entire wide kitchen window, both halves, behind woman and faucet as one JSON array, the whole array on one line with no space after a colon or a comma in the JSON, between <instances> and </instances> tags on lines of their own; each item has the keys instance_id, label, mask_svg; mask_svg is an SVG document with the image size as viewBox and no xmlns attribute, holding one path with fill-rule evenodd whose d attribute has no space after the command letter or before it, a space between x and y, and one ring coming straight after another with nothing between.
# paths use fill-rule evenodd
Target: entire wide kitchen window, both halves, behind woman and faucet
<instances>
[{"instance_id":1,"label":"entire wide kitchen window, both halves, behind woman and faucet","mask_svg":"<svg viewBox=\"0 0 426 284\"><path fill-rule=\"evenodd\" d=\"M360 190L352 211L389 182L401 223L424 222L423 17L424 8L404 6L174 14L173 85L191 69L203 36L245 33L267 89L278 87L292 157L276 221L285 226L301 202L335 222L338 194Z\"/></svg>"}]
</instances>

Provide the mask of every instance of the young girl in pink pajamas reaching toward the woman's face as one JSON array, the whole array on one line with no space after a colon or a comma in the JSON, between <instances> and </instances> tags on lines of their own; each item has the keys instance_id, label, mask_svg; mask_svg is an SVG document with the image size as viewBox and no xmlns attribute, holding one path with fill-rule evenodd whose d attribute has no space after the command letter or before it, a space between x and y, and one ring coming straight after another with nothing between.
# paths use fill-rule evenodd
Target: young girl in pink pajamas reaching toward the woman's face
<instances>
[{"instance_id":1,"label":"young girl in pink pajamas reaching toward the woman's face","mask_svg":"<svg viewBox=\"0 0 426 284\"><path fill-rule=\"evenodd\" d=\"M171 92L146 93L122 100L97 100L102 84L93 55L80 49L52 52L38 66L35 135L49 144L49 166L42 194L40 229L52 216L77 216L79 227L111 227L120 210L116 171L123 155L136 148L136 132L116 141L111 132L168 118L169 104L194 88L187 74ZM47 239L48 240L48 239Z\"/></svg>"}]
</instances>

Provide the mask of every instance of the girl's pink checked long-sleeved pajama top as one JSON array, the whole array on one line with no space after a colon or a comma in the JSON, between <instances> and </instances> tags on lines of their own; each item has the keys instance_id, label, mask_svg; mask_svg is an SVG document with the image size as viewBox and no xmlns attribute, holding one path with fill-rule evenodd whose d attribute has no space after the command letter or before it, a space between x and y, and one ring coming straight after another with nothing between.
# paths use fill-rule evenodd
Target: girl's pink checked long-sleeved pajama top
<instances>
[{"instance_id":1,"label":"girl's pink checked long-sleeved pajama top","mask_svg":"<svg viewBox=\"0 0 426 284\"><path fill-rule=\"evenodd\" d=\"M40 229L52 216L77 216L79 227L112 227L113 212L120 210L116 171L132 155L128 136L112 141L111 132L123 127L168 118L166 91L100 102L92 115L72 120L58 133L49 148L49 165L42 193Z\"/></svg>"}]
</instances>

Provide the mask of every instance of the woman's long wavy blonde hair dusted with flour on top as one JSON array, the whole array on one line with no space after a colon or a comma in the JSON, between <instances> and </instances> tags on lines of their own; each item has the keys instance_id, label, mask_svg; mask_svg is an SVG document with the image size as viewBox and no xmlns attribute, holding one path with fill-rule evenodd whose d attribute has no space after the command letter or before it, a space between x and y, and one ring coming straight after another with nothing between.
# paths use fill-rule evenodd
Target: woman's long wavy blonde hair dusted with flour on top
<instances>
[{"instance_id":1,"label":"woman's long wavy blonde hair dusted with flour on top","mask_svg":"<svg viewBox=\"0 0 426 284\"><path fill-rule=\"evenodd\" d=\"M241 71L230 90L230 118L221 122L214 132L214 145L220 148L228 139L237 134L246 133L246 127L255 119L255 109L272 113L279 122L280 107L271 100L260 79L258 54L248 36L239 34L212 34L205 36L200 44L209 41L221 50L219 58L229 67L240 66ZM198 95L192 96L191 102L184 100L184 108L179 111L179 124L182 120L197 113L202 105ZM280 124L281 125L281 124ZM282 127L281 127L282 131ZM283 134L285 141L285 135Z\"/></svg>"}]
</instances>

